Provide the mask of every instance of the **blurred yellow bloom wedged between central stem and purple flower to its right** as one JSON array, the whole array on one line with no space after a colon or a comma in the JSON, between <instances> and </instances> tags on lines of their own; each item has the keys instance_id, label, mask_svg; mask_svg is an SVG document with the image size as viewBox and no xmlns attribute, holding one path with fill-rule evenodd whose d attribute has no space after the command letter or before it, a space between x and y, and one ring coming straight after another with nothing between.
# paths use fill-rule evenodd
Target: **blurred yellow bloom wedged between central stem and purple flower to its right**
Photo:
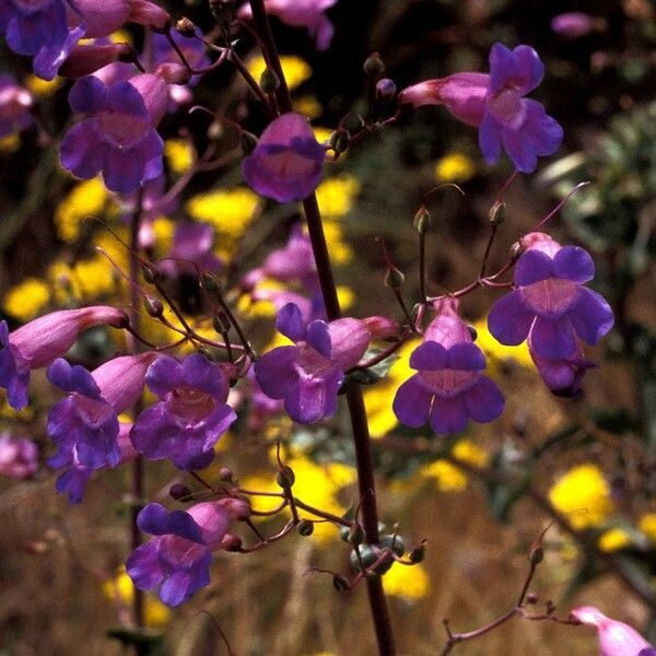
<instances>
[{"instance_id":1,"label":"blurred yellow bloom wedged between central stem and purple flower to its right","mask_svg":"<svg viewBox=\"0 0 656 656\"><path fill-rule=\"evenodd\" d=\"M387 376L375 385L363 387L372 437L383 437L397 425L398 421L391 410L391 401L401 383L415 373L410 367L410 354L419 343L417 339L406 342L397 351L399 360L393 364Z\"/></svg>"}]
</instances>

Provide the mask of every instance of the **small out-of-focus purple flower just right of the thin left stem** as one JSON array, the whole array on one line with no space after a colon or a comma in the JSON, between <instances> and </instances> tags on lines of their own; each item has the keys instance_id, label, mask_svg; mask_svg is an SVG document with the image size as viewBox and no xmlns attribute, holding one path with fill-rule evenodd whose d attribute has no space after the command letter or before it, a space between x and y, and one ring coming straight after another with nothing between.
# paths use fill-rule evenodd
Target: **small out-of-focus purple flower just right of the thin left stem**
<instances>
[{"instance_id":1,"label":"small out-of-focus purple flower just right of the thin left stem","mask_svg":"<svg viewBox=\"0 0 656 656\"><path fill-rule=\"evenodd\" d=\"M207 223L178 223L168 255L157 269L169 278L200 271L215 272L223 263L214 255L214 229Z\"/></svg>"}]
</instances>

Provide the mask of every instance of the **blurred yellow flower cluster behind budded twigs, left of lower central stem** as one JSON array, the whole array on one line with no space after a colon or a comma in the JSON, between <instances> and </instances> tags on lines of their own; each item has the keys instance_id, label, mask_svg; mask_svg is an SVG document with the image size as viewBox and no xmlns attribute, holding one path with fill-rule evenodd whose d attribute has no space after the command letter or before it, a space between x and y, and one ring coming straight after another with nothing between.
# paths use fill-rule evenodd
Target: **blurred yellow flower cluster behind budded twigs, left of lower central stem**
<instances>
[{"instance_id":1,"label":"blurred yellow flower cluster behind budded twigs, left of lower central stem","mask_svg":"<svg viewBox=\"0 0 656 656\"><path fill-rule=\"evenodd\" d=\"M337 493L355 480L355 471L351 467L338 462L317 465L305 456L298 455L285 459L285 465L294 470L296 481L293 487L294 496L308 505L342 515L345 508L338 502ZM258 492L280 492L276 482L277 472L260 472L244 478L241 485ZM278 496L249 496L250 504L256 511L271 511L280 505ZM319 519L312 513L300 511L302 517ZM313 538L320 544L335 537L335 526L329 522L315 524Z\"/></svg>"}]
</instances>

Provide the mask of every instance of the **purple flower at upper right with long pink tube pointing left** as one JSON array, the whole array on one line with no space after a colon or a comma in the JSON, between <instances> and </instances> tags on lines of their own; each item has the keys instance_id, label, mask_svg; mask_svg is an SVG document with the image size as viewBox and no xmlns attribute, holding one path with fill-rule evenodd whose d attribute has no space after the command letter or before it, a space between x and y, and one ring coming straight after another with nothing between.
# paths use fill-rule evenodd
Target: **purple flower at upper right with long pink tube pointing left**
<instances>
[{"instance_id":1,"label":"purple flower at upper right with long pink tube pointing left","mask_svg":"<svg viewBox=\"0 0 656 656\"><path fill-rule=\"evenodd\" d=\"M399 103L419 107L444 104L464 122L479 126L485 161L499 160L501 148L523 173L532 173L538 156L553 154L563 139L560 125L536 101L524 96L541 82L544 67L529 46L509 50L494 44L490 73L455 73L405 89Z\"/></svg>"}]
</instances>

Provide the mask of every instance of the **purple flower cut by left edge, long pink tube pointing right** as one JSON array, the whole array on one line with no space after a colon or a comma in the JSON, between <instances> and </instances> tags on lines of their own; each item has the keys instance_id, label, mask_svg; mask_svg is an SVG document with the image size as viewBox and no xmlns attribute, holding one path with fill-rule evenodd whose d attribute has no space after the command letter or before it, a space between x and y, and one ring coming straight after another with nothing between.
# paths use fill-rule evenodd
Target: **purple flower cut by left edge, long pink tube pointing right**
<instances>
[{"instance_id":1,"label":"purple flower cut by left edge, long pink tube pointing right","mask_svg":"<svg viewBox=\"0 0 656 656\"><path fill-rule=\"evenodd\" d=\"M89 328L102 325L125 328L122 309L105 305L52 312L25 324L11 335L0 321L0 387L8 391L9 405L21 410L27 405L30 372L48 366L63 355Z\"/></svg>"}]
</instances>

